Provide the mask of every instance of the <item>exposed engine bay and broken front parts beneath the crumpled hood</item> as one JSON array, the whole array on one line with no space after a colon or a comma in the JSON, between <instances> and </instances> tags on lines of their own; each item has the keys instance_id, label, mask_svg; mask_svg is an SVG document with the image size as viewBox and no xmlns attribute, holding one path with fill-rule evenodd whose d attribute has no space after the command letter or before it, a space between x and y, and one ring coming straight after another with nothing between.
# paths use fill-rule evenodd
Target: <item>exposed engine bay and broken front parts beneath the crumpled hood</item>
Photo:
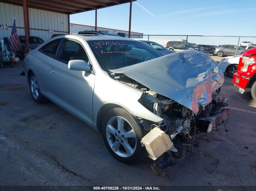
<instances>
[{"instance_id":1,"label":"exposed engine bay and broken front parts beneath the crumpled hood","mask_svg":"<svg viewBox=\"0 0 256 191\"><path fill-rule=\"evenodd\" d=\"M184 158L185 153L184 150L180 149L180 145L192 146L196 136L204 135L212 130L218 131L219 127L223 125L224 120L229 115L227 98L218 98L218 95L221 94L221 88L213 92L211 103L206 106L200 106L199 111L194 113L180 103L157 94L124 74L109 73L109 75L121 83L142 91L143 94L138 101L152 113L164 119L160 124L149 123L150 129L149 127L144 127L146 130L159 128L169 136L172 143L170 144L171 148L167 149L168 152L163 157L165 161L166 158L169 158L166 155L170 154L170 151L172 151L171 154L174 158ZM145 146L143 142L141 143ZM155 150L159 151L160 148L155 145L154 147ZM163 148L162 145L160 147ZM157 159L166 151L165 149L159 155L149 152L149 158L153 160ZM163 160L160 161L162 164ZM167 166L168 164L165 164L162 167L166 168ZM154 166L152 169L155 171L158 167ZM155 173L159 173L159 170Z\"/></svg>"}]
</instances>

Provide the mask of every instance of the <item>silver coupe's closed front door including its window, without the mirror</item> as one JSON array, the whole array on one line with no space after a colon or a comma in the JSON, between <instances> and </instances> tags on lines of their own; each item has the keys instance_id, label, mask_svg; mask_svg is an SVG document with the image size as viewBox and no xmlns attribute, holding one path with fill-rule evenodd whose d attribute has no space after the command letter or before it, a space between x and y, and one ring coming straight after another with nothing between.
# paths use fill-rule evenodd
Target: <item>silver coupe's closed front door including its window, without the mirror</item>
<instances>
[{"instance_id":1,"label":"silver coupe's closed front door including its window, without the mirror","mask_svg":"<svg viewBox=\"0 0 256 191\"><path fill-rule=\"evenodd\" d=\"M92 124L92 97L95 75L93 72L68 69L69 60L84 60L90 63L84 46L75 40L63 39L58 55L48 69L48 86L51 99Z\"/></svg>"}]
</instances>

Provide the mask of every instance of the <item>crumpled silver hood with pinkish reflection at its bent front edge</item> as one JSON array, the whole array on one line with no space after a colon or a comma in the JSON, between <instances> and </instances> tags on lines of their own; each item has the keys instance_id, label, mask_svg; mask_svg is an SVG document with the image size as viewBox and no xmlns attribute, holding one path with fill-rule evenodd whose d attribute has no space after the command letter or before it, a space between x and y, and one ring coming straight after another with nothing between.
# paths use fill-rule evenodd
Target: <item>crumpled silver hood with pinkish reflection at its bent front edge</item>
<instances>
[{"instance_id":1,"label":"crumpled silver hood with pinkish reflection at its bent front edge","mask_svg":"<svg viewBox=\"0 0 256 191\"><path fill-rule=\"evenodd\" d=\"M110 71L125 74L194 113L211 103L212 93L224 82L221 66L209 54L192 49Z\"/></svg>"}]
</instances>

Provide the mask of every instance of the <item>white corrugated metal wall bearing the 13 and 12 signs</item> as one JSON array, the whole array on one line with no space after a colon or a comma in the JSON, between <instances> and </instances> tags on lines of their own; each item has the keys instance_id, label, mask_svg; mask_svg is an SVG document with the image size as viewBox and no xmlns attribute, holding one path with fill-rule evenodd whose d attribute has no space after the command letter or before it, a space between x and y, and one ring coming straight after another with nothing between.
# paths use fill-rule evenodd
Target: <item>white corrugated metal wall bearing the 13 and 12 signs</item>
<instances>
[{"instance_id":1,"label":"white corrugated metal wall bearing the 13 and 12 signs","mask_svg":"<svg viewBox=\"0 0 256 191\"><path fill-rule=\"evenodd\" d=\"M68 14L34 8L28 8L28 14L30 35L48 40L52 36L52 33L68 34ZM0 25L8 25L8 30L3 30L1 26L0 39L10 37L14 17L16 17L18 35L25 35L23 8L21 6L0 2ZM53 31L50 31L49 34L48 29L53 29Z\"/></svg>"}]
</instances>

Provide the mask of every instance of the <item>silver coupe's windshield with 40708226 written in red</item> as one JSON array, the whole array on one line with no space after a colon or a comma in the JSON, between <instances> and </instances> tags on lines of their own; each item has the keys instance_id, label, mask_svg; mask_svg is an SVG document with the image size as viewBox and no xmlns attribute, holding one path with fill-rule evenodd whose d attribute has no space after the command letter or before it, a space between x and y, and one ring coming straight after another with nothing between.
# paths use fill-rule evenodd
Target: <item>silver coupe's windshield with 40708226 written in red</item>
<instances>
[{"instance_id":1,"label":"silver coupe's windshield with 40708226 written in red","mask_svg":"<svg viewBox=\"0 0 256 191\"><path fill-rule=\"evenodd\" d=\"M163 56L154 48L137 41L87 41L102 69L116 69Z\"/></svg>"}]
</instances>

